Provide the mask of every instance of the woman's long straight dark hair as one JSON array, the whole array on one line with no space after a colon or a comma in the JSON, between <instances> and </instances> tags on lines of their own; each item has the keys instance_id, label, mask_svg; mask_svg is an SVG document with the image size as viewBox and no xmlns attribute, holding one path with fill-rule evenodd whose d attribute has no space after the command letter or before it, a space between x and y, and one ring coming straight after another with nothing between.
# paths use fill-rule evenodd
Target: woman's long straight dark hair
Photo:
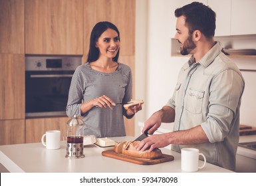
<instances>
[{"instance_id":1,"label":"woman's long straight dark hair","mask_svg":"<svg viewBox=\"0 0 256 186\"><path fill-rule=\"evenodd\" d=\"M89 48L89 52L88 52L88 56L87 56L87 62L92 62L92 61L95 61L98 59L100 51L96 47L96 43L97 43L100 35L102 35L102 33L104 33L104 31L106 31L106 29L112 29L112 30L116 31L116 33L118 34L118 39L120 41L120 34L118 31L118 28L114 24L112 24L108 21L102 21L102 22L97 23L93 27L92 33L90 33L90 48ZM115 62L118 62L119 52L120 52L120 48L119 48L116 56L114 56L114 58L112 58L112 60L114 60Z\"/></svg>"}]
</instances>

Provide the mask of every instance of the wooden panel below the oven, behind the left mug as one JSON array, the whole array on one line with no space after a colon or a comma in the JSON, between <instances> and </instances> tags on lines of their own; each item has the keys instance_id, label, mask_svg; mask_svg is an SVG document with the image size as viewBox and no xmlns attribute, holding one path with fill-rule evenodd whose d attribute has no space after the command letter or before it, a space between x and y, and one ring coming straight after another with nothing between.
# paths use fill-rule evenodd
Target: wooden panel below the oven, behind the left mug
<instances>
[{"instance_id":1,"label":"wooden panel below the oven, behind the left mug","mask_svg":"<svg viewBox=\"0 0 256 186\"><path fill-rule=\"evenodd\" d=\"M68 120L70 120L68 117L27 119L25 124L25 142L40 142L43 134L45 134L47 130L61 130L62 137L66 131L66 123Z\"/></svg>"}]
</instances>

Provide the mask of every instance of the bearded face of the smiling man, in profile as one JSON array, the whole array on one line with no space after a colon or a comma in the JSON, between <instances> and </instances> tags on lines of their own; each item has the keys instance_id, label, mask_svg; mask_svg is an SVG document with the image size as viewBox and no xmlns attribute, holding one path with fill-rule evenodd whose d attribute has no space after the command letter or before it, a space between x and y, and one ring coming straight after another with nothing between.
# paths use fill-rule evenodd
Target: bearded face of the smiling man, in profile
<instances>
[{"instance_id":1,"label":"bearded face of the smiling man, in profile","mask_svg":"<svg viewBox=\"0 0 256 186\"><path fill-rule=\"evenodd\" d=\"M189 32L188 27L185 24L186 18L184 16L178 17L176 22L176 35L175 39L180 43L180 53L182 55L187 55L196 48L195 43L193 42L192 35Z\"/></svg>"}]
</instances>

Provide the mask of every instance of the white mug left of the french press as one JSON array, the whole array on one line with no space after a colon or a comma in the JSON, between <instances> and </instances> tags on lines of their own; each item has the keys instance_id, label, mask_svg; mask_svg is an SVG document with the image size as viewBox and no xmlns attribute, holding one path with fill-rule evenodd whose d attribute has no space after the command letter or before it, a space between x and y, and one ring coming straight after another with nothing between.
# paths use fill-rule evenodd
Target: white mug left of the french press
<instances>
[{"instance_id":1,"label":"white mug left of the french press","mask_svg":"<svg viewBox=\"0 0 256 186\"><path fill-rule=\"evenodd\" d=\"M59 149L61 147L61 131L49 130L42 136L41 141L47 149Z\"/></svg>"}]
</instances>

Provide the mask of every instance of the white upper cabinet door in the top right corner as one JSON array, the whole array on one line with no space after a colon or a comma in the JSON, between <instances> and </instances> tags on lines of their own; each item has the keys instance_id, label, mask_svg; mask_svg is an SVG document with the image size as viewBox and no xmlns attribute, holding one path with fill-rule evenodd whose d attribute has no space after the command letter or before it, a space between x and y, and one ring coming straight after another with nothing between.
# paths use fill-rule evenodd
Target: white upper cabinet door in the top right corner
<instances>
[{"instance_id":1,"label":"white upper cabinet door in the top right corner","mask_svg":"<svg viewBox=\"0 0 256 186\"><path fill-rule=\"evenodd\" d=\"M256 34L256 1L231 1L231 35Z\"/></svg>"}]
</instances>

